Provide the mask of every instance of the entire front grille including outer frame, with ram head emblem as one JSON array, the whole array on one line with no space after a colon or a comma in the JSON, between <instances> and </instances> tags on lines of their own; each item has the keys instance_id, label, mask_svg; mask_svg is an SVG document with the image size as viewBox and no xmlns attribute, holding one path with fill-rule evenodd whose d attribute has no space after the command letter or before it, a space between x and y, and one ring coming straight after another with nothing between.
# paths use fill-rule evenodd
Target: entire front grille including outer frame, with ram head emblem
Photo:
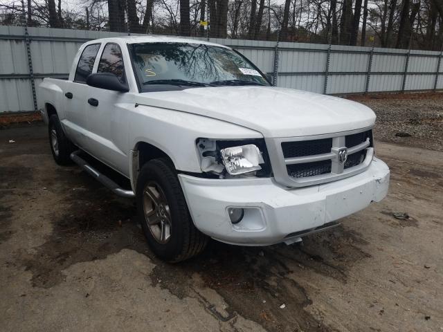
<instances>
[{"instance_id":1,"label":"entire front grille including outer frame, with ram head emblem","mask_svg":"<svg viewBox=\"0 0 443 332\"><path fill-rule=\"evenodd\" d=\"M266 145L275 180L288 187L325 183L363 172L374 154L372 129L368 128L319 136L270 138Z\"/></svg>"}]
</instances>

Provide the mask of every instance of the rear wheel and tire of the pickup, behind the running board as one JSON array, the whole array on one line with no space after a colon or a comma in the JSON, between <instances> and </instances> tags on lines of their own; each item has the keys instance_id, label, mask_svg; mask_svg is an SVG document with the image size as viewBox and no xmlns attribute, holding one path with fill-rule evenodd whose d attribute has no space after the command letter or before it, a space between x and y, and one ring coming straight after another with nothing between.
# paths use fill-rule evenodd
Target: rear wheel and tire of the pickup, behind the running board
<instances>
[{"instance_id":1,"label":"rear wheel and tire of the pickup, behind the running board","mask_svg":"<svg viewBox=\"0 0 443 332\"><path fill-rule=\"evenodd\" d=\"M62 124L57 114L53 114L48 121L49 146L53 154L55 163L58 165L71 165L70 158L75 146L66 137L62 129Z\"/></svg>"}]
</instances>

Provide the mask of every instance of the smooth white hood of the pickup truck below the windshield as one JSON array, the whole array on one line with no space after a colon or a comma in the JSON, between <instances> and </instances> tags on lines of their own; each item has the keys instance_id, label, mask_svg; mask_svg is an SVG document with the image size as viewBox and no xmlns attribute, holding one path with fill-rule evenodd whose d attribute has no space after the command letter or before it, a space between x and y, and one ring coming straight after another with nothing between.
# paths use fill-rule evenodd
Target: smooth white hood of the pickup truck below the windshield
<instances>
[{"instance_id":1,"label":"smooth white hood of the pickup truck below the windshield","mask_svg":"<svg viewBox=\"0 0 443 332\"><path fill-rule=\"evenodd\" d=\"M184 111L260 131L265 138L311 136L370 127L363 104L271 86L220 86L140 93L138 104Z\"/></svg>"}]
</instances>

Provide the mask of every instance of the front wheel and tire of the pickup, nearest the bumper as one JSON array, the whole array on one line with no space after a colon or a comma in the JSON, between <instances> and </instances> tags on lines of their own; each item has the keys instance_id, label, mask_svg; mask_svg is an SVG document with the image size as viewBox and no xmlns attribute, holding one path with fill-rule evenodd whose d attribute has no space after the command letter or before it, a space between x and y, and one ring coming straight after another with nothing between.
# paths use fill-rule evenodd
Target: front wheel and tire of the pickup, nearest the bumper
<instances>
[{"instance_id":1,"label":"front wheel and tire of the pickup, nearest the bumper","mask_svg":"<svg viewBox=\"0 0 443 332\"><path fill-rule=\"evenodd\" d=\"M157 257L176 263L202 252L208 237L195 228L177 173L170 164L159 158L143 165L136 201L138 220L150 248Z\"/></svg>"}]
</instances>

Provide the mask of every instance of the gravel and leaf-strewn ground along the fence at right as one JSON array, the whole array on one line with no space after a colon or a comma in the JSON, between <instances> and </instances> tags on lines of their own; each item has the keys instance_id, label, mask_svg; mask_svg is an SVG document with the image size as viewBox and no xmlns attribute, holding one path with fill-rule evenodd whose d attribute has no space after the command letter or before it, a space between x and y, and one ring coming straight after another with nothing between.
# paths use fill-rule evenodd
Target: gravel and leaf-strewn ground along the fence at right
<instances>
[{"instance_id":1,"label":"gravel and leaf-strewn ground along the fence at right","mask_svg":"<svg viewBox=\"0 0 443 332\"><path fill-rule=\"evenodd\" d=\"M349 99L367 105L377 114L374 129L377 140L443 151L443 93L383 94Z\"/></svg>"}]
</instances>

